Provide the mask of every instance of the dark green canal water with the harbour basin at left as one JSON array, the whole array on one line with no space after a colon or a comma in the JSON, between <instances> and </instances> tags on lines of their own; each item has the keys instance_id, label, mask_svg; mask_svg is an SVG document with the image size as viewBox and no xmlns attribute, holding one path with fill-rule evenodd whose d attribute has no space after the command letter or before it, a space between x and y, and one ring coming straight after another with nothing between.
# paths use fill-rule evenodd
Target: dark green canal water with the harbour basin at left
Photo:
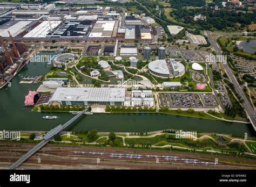
<instances>
[{"instance_id":1,"label":"dark green canal water with the harbour basin at left","mask_svg":"<svg viewBox=\"0 0 256 187\"><path fill-rule=\"evenodd\" d=\"M29 90L37 90L39 84L19 84L22 76L45 75L49 69L50 65L47 63L31 62L12 79L11 87L6 85L0 90L0 130L49 131L73 117L73 114L66 112L31 112L31 107L23 106L24 96L28 94ZM47 115L58 116L58 119L45 120L42 118ZM174 128L201 132L255 135L250 124L149 113L87 115L76 121L69 127L69 130L91 130L93 128L101 132L149 132Z\"/></svg>"}]
</instances>

